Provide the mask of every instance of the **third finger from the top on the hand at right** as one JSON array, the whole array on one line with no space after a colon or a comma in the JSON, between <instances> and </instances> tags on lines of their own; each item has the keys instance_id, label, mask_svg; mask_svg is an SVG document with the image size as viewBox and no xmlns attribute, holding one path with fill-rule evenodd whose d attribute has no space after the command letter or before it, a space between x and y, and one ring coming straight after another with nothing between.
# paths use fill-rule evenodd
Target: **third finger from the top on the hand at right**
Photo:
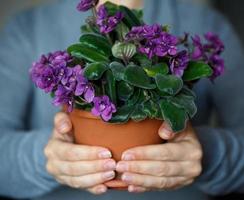
<instances>
[{"instance_id":1,"label":"third finger from the top on the hand at right","mask_svg":"<svg viewBox=\"0 0 244 200\"><path fill-rule=\"evenodd\" d=\"M171 189L188 181L185 177L155 177L132 173L124 173L122 180L129 185L155 189Z\"/></svg>"}]
</instances>

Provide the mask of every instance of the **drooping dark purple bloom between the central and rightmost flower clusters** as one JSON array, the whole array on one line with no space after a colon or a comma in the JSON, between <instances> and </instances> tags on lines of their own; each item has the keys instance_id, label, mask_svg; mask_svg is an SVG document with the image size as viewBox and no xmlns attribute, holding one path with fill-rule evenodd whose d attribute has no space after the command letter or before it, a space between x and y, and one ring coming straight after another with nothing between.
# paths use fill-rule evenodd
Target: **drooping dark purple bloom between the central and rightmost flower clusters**
<instances>
[{"instance_id":1,"label":"drooping dark purple bloom between the central and rightmost flower clusters","mask_svg":"<svg viewBox=\"0 0 244 200\"><path fill-rule=\"evenodd\" d=\"M175 76L182 77L190 61L187 51L181 51L170 59L170 70Z\"/></svg>"}]
</instances>

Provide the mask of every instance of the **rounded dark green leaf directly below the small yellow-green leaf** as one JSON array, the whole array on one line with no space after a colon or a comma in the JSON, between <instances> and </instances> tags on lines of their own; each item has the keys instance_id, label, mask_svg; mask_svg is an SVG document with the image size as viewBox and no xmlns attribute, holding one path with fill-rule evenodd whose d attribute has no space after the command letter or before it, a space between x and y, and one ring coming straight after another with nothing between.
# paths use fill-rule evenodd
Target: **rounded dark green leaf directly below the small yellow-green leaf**
<instances>
[{"instance_id":1,"label":"rounded dark green leaf directly below the small yellow-green leaf","mask_svg":"<svg viewBox=\"0 0 244 200\"><path fill-rule=\"evenodd\" d=\"M155 77L158 89L170 95L177 94L183 87L182 79L174 75L158 74Z\"/></svg>"}]
</instances>

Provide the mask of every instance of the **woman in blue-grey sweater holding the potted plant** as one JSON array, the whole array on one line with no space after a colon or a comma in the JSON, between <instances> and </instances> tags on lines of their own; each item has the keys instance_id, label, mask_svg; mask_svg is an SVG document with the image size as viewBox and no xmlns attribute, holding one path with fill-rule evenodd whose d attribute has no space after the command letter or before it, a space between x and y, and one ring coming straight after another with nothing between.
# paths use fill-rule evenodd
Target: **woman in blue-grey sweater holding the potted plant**
<instances>
[{"instance_id":1,"label":"woman in blue-grey sweater holding the potted plant","mask_svg":"<svg viewBox=\"0 0 244 200\"><path fill-rule=\"evenodd\" d=\"M240 68L243 52L232 28L218 14L180 1L121 2L144 7L147 23L169 24L174 34L213 31L225 41L229 66L225 76L214 86L207 80L196 86L199 114L192 122L195 129L189 125L174 137L163 124L159 135L171 139L168 144L128 150L119 163L111 159L108 149L74 145L69 136L71 123L64 113L56 115L52 131L58 110L51 106L47 95L32 87L28 68L38 55L65 49L75 42L78 27L88 15L75 11L76 0L58 1L19 16L1 37L0 195L45 195L40 199L207 199L196 187L208 194L242 189L244 180L239 174L244 169L244 70ZM213 110L218 113L220 128L209 126ZM162 192L191 184L201 173L202 155L203 172L196 186ZM115 170L124 173L130 192L160 191L136 196L107 191L103 183L114 178ZM60 183L69 187L61 187ZM85 190L105 195L94 197Z\"/></svg>"}]
</instances>

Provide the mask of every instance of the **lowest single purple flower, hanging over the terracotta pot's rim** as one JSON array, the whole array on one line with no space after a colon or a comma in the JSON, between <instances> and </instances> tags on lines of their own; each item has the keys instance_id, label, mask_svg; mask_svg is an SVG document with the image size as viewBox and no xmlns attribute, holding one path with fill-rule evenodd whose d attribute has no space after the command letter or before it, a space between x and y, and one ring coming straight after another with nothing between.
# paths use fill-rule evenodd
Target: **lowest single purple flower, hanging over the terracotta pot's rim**
<instances>
[{"instance_id":1,"label":"lowest single purple flower, hanging over the terracotta pot's rim","mask_svg":"<svg viewBox=\"0 0 244 200\"><path fill-rule=\"evenodd\" d=\"M113 113L116 112L115 105L110 101L108 96L95 97L93 100L94 107L91 112L94 116L101 116L104 121L109 121Z\"/></svg>"}]
</instances>

